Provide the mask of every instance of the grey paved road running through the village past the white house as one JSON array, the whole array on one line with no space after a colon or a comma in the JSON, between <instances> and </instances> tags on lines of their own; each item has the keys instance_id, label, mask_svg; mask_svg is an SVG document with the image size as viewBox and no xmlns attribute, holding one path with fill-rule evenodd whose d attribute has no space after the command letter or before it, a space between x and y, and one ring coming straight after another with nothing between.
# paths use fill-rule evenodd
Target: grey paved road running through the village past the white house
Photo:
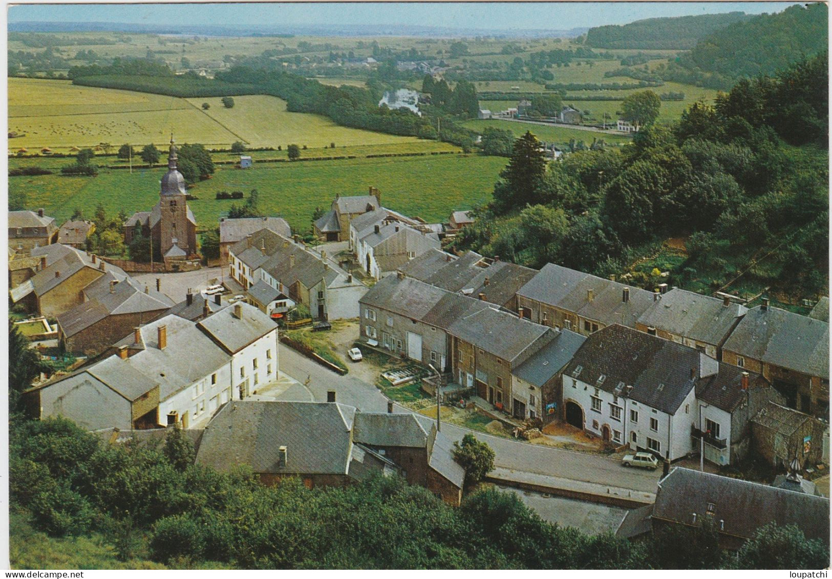
<instances>
[{"instance_id":1,"label":"grey paved road running through the village past the white house","mask_svg":"<svg viewBox=\"0 0 832 579\"><path fill-rule=\"evenodd\" d=\"M339 376L283 344L280 344L280 370L301 383L310 377L308 388L315 400L325 401L327 391L334 390L335 399L340 403L349 404L364 412L387 411L387 398L374 385L353 378L349 374ZM396 410L410 412L399 405L396 406ZM417 416L424 423L433 422L421 414ZM473 432L453 424L442 424L441 429L451 440L462 440L465 434ZM612 458L574 453L562 448L529 444L486 433L473 434L493 448L494 464L498 467L641 492L656 492L656 484L661 476L661 471L651 473L622 467L621 463Z\"/></svg>"}]
</instances>

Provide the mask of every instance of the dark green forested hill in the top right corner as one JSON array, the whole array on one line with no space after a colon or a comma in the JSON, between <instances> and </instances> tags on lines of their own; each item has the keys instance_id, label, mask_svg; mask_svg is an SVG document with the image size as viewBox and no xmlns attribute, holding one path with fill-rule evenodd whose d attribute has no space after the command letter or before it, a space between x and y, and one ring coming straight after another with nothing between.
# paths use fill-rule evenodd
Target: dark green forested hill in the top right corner
<instances>
[{"instance_id":1,"label":"dark green forested hill in the top right corner","mask_svg":"<svg viewBox=\"0 0 832 579\"><path fill-rule=\"evenodd\" d=\"M680 65L732 80L774 74L800 57L825 50L828 28L825 4L793 6L713 32L682 57Z\"/></svg>"}]
</instances>

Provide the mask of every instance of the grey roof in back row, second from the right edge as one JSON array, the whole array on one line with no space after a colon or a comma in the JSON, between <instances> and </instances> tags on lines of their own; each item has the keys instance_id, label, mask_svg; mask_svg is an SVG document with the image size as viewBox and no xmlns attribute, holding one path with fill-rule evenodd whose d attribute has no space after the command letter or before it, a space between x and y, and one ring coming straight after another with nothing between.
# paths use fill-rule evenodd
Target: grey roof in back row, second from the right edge
<instances>
[{"instance_id":1,"label":"grey roof in back row, second from the right edge","mask_svg":"<svg viewBox=\"0 0 832 579\"><path fill-rule=\"evenodd\" d=\"M748 309L721 299L674 288L641 314L639 324L662 329L671 334L719 345Z\"/></svg>"}]
</instances>

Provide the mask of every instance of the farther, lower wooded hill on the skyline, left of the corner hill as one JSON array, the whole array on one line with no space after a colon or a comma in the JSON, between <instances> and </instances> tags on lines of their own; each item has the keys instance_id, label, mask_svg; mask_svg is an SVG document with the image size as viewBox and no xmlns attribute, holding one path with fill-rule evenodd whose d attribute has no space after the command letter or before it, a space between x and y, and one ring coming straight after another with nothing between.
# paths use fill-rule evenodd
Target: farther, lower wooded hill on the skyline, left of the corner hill
<instances>
[{"instance_id":1,"label":"farther, lower wooded hill on the skyline, left of the corner hill","mask_svg":"<svg viewBox=\"0 0 832 579\"><path fill-rule=\"evenodd\" d=\"M736 22L747 22L752 16L745 12L703 14L676 18L648 18L623 25L590 28L589 47L640 48L645 50L690 49L696 42Z\"/></svg>"}]
</instances>

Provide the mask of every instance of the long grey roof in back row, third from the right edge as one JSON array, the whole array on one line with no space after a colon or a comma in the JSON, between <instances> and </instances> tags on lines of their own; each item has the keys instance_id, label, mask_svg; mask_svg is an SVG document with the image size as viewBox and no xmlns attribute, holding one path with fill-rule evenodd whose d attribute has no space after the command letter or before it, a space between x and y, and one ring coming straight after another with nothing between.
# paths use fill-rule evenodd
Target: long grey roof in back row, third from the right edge
<instances>
[{"instance_id":1,"label":"long grey roof in back row, third from the right edge","mask_svg":"<svg viewBox=\"0 0 832 579\"><path fill-rule=\"evenodd\" d=\"M625 288L630 288L630 298L626 302L623 300ZM554 264L545 265L518 290L518 295L605 325L622 324L631 328L653 304L652 292Z\"/></svg>"}]
</instances>

